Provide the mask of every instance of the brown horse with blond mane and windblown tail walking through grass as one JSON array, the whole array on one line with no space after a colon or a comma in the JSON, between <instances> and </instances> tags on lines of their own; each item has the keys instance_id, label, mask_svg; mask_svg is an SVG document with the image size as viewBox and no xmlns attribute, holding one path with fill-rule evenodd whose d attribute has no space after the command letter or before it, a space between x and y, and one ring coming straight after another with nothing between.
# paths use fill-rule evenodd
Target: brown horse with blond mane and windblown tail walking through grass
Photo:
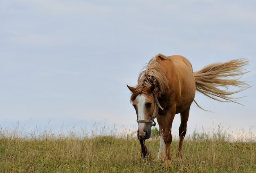
<instances>
[{"instance_id":1,"label":"brown horse with blond mane and windblown tail walking through grass","mask_svg":"<svg viewBox=\"0 0 256 173\"><path fill-rule=\"evenodd\" d=\"M177 156L182 157L182 144L186 135L189 109L192 102L195 102L195 91L220 102L236 102L237 98L230 95L249 87L245 82L239 81L240 76L247 73L243 68L246 64L248 62L244 59L231 60L210 64L193 72L191 63L183 56L166 57L158 54L152 58L145 70L139 74L137 86L127 85L132 91L130 101L137 114L137 135L142 157L149 155L145 140L150 138L151 126L155 126L154 118L157 118L160 135L158 159L171 159L171 128L177 113L180 113L181 120ZM228 91L230 86L238 87L238 90Z\"/></svg>"}]
</instances>

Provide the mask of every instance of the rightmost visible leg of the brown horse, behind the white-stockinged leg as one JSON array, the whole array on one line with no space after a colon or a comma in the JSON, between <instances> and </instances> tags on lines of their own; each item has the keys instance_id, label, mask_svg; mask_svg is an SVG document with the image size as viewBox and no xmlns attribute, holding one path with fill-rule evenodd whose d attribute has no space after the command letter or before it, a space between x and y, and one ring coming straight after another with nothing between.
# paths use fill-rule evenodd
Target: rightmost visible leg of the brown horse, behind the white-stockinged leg
<instances>
[{"instance_id":1,"label":"rightmost visible leg of the brown horse, behind the white-stockinged leg","mask_svg":"<svg viewBox=\"0 0 256 173\"><path fill-rule=\"evenodd\" d=\"M188 122L188 119L189 119L189 109L190 108L180 113L180 127L179 127L180 142L179 142L179 149L177 153L177 157L180 157L180 158L182 158L182 144L183 144L184 137L186 135L186 123Z\"/></svg>"}]
</instances>

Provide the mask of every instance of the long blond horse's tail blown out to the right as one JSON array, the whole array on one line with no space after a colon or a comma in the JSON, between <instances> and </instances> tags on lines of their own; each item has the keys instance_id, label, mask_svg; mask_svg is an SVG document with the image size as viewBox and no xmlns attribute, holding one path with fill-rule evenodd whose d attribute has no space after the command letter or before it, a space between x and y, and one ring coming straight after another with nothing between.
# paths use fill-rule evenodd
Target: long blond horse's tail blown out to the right
<instances>
[{"instance_id":1,"label":"long blond horse's tail blown out to the right","mask_svg":"<svg viewBox=\"0 0 256 173\"><path fill-rule=\"evenodd\" d=\"M239 97L236 98L231 95L250 87L246 82L239 80L243 74L248 72L244 69L244 66L248 63L245 59L237 59L210 64L199 71L193 72L196 91L213 100L238 103L236 100ZM232 88L231 90L231 86L234 86L235 89ZM197 102L195 104L198 105ZM202 109L202 107L200 108Z\"/></svg>"}]
</instances>

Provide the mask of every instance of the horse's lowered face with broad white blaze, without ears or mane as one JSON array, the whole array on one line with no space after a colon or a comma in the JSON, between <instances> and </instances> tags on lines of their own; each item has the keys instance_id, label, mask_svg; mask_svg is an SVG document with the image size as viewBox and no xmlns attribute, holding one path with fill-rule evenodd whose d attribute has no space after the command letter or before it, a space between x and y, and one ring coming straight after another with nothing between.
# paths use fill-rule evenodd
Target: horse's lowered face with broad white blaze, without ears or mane
<instances>
[{"instance_id":1,"label":"horse's lowered face with broad white blaze, without ears or mane","mask_svg":"<svg viewBox=\"0 0 256 173\"><path fill-rule=\"evenodd\" d=\"M139 94L132 102L137 114L137 120L150 120L154 112L155 102L152 95ZM138 137L146 140L150 138L151 122L138 123Z\"/></svg>"}]
</instances>

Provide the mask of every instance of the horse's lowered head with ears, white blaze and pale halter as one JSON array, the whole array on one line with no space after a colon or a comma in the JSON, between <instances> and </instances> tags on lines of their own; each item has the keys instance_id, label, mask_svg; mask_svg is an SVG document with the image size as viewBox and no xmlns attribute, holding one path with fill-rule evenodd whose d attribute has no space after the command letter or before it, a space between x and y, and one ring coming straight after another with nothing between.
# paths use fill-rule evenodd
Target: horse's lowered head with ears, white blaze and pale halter
<instances>
[{"instance_id":1,"label":"horse's lowered head with ears, white blaze and pale halter","mask_svg":"<svg viewBox=\"0 0 256 173\"><path fill-rule=\"evenodd\" d=\"M135 88L129 87L128 89L135 92ZM142 140L146 140L150 138L151 127L155 126L155 115L157 114L157 103L155 102L153 91L155 89L155 85L152 86L141 93L139 93L134 100L132 100L132 105L134 106L137 114L137 122L138 122L138 138Z\"/></svg>"}]
</instances>

